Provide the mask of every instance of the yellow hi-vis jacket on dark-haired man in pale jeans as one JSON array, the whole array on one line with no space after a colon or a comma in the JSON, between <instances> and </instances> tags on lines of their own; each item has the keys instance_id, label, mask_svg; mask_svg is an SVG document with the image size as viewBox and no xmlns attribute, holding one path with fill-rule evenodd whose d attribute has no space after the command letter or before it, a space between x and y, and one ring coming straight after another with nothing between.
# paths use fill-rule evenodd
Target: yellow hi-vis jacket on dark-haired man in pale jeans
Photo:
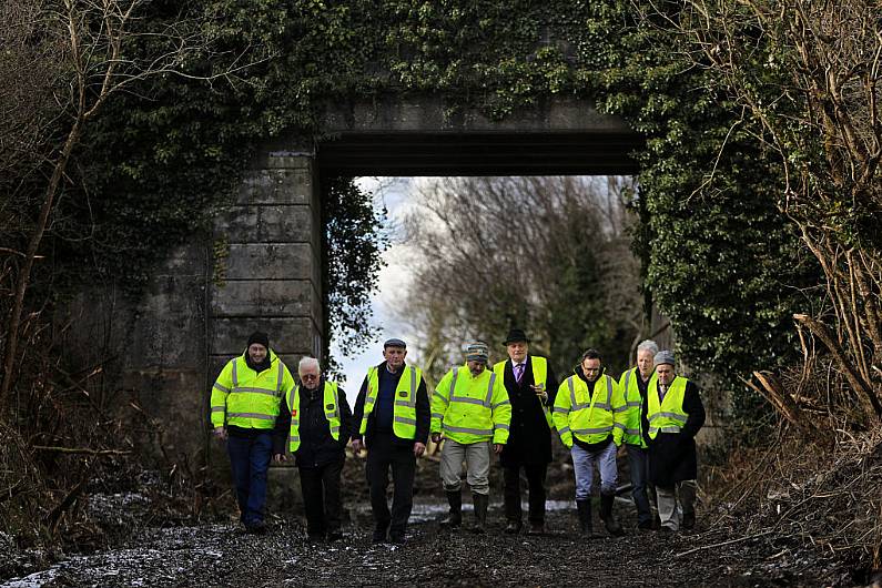
<instances>
[{"instance_id":1,"label":"yellow hi-vis jacket on dark-haired man in pale jeans","mask_svg":"<svg viewBox=\"0 0 882 588\"><path fill-rule=\"evenodd\" d=\"M560 442L572 447L572 436L585 443L600 443L612 433L616 445L621 445L624 428L615 427L624 412L618 383L604 374L594 384L594 394L588 396L588 384L574 374L560 383L555 398L552 415Z\"/></svg>"}]
</instances>

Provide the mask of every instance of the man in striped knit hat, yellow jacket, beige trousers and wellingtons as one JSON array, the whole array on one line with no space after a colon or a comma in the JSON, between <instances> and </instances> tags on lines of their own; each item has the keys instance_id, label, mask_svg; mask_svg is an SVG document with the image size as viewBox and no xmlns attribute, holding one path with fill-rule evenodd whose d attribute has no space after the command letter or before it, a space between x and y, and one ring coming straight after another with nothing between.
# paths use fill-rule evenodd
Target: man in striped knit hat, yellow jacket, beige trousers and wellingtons
<instances>
[{"instance_id":1,"label":"man in striped knit hat, yellow jacket, beige trousers and wellingtons","mask_svg":"<svg viewBox=\"0 0 882 588\"><path fill-rule=\"evenodd\" d=\"M455 366L438 382L432 396L432 440L440 443L440 478L450 514L447 524L463 521L459 473L466 462L466 481L475 505L475 533L487 524L490 452L499 455L508 440L511 404L503 378L487 369L489 348L474 342L465 347L466 365Z\"/></svg>"}]
</instances>

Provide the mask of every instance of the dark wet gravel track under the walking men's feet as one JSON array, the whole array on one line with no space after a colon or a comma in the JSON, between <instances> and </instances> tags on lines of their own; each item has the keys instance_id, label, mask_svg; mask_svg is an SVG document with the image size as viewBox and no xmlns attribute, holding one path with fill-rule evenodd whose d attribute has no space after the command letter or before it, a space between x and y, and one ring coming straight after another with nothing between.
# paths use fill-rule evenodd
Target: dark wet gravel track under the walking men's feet
<instances>
[{"instance_id":1,"label":"dark wet gravel track under the walking men's feet","mask_svg":"<svg viewBox=\"0 0 882 588\"><path fill-rule=\"evenodd\" d=\"M499 505L490 510L488 533L475 535L440 527L444 507L425 501L415 505L404 546L371 545L364 509L351 511L346 537L334 544L310 544L296 519L273 519L265 536L245 535L233 523L146 528L115 549L71 556L0 586L854 585L804 551L701 525L692 535L629 528L620 538L582 539L576 534L574 506L549 503L546 535L509 536L503 533ZM632 527L627 506L618 508ZM470 517L466 513L466 523Z\"/></svg>"}]
</instances>

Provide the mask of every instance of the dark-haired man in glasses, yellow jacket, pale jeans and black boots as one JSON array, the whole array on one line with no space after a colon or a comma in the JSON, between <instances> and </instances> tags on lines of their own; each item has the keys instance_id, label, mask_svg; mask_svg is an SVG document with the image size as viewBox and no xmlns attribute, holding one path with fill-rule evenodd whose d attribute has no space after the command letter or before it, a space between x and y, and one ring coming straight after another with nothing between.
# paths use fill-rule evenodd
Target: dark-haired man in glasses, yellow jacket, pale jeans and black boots
<instances>
[{"instance_id":1,"label":"dark-haired man in glasses, yellow jacket, pale jeans and black boots","mask_svg":"<svg viewBox=\"0 0 882 588\"><path fill-rule=\"evenodd\" d=\"M586 537L594 535L591 483L594 468L600 470L600 519L610 535L622 535L612 515L616 498L616 447L621 445L622 396L618 383L604 374L600 354L586 351L575 374L560 383L552 416L561 443L572 456L576 475L576 507L579 527Z\"/></svg>"}]
</instances>

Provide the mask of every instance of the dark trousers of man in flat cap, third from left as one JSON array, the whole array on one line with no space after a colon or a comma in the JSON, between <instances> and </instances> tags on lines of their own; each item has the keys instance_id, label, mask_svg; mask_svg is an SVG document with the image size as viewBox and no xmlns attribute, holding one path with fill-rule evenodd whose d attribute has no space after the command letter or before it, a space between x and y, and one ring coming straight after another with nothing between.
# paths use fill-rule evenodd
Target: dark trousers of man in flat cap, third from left
<instances>
[{"instance_id":1,"label":"dark trousers of man in flat cap, third from left","mask_svg":"<svg viewBox=\"0 0 882 588\"><path fill-rule=\"evenodd\" d=\"M392 513L386 501L392 468L393 497ZM371 508L374 511L376 530L384 534L404 536L407 519L414 504L414 473L416 457L413 445L396 443L392 435L377 434L367 448L365 474L371 487Z\"/></svg>"}]
</instances>

